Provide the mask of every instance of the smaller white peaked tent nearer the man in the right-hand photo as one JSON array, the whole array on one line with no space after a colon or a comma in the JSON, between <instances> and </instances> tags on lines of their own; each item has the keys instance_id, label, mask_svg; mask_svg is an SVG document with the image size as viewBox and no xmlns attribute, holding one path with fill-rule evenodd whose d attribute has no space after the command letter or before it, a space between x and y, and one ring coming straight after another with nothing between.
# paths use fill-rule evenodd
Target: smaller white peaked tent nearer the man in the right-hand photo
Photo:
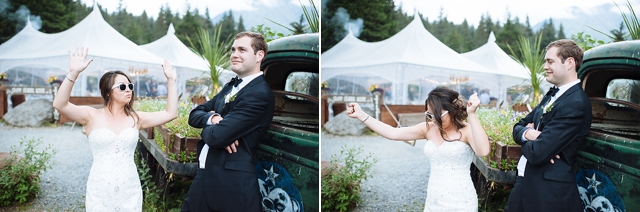
<instances>
[{"instance_id":1,"label":"smaller white peaked tent nearer the man in the right-hand photo","mask_svg":"<svg viewBox=\"0 0 640 212\"><path fill-rule=\"evenodd\" d=\"M502 51L496 44L496 37L493 32L489 34L486 44L461 55L500 74L500 81L503 83L500 84L501 86L497 93L499 95L498 98L501 100L506 99L507 86L512 86L519 82L523 83L529 79L529 69Z\"/></svg>"}]
</instances>

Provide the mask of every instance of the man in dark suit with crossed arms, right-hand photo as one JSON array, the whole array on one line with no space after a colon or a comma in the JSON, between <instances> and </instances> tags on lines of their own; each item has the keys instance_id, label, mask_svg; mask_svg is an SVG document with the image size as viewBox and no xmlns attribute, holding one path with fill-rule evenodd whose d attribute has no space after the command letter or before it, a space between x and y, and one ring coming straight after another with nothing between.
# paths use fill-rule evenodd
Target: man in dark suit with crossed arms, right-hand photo
<instances>
[{"instance_id":1,"label":"man in dark suit with crossed arms, right-hand photo","mask_svg":"<svg viewBox=\"0 0 640 212\"><path fill-rule=\"evenodd\" d=\"M522 157L505 211L583 211L571 171L591 126L591 103L577 74L582 55L572 40L547 46L544 70L555 86L513 127Z\"/></svg>"}]
</instances>

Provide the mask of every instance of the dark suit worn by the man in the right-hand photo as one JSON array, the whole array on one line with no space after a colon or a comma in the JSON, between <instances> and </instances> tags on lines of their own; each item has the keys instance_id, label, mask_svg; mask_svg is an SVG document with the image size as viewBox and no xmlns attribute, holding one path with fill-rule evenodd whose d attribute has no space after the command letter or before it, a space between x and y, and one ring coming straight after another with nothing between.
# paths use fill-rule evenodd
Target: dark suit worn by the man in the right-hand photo
<instances>
[{"instance_id":1,"label":"dark suit worn by the man in the right-hand photo","mask_svg":"<svg viewBox=\"0 0 640 212\"><path fill-rule=\"evenodd\" d=\"M509 196L508 211L583 211L571 166L591 126L591 103L581 83L570 87L544 113L542 103L513 127L513 139L527 158L524 178ZM544 114L543 114L544 113ZM522 140L528 123L541 131L534 141ZM538 126L540 125L540 126ZM555 159L556 155L560 159ZM550 159L555 163L551 164Z\"/></svg>"}]
</instances>

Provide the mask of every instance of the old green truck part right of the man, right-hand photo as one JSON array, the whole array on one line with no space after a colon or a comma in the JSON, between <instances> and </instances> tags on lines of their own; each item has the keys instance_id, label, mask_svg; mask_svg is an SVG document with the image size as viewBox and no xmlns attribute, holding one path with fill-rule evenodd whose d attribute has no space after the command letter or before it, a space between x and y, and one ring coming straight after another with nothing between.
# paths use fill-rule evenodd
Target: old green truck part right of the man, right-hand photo
<instances>
[{"instance_id":1,"label":"old green truck part right of the man, right-hand photo","mask_svg":"<svg viewBox=\"0 0 640 212\"><path fill-rule=\"evenodd\" d=\"M640 210L640 41L586 51L578 76L593 121L574 164L585 211Z\"/></svg>"}]
</instances>

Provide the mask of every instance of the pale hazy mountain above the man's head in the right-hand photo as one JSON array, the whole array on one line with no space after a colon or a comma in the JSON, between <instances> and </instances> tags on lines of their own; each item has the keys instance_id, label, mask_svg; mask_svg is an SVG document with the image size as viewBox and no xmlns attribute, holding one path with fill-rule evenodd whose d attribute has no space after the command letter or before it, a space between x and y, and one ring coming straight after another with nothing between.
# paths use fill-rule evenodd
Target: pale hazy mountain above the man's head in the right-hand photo
<instances>
[{"instance_id":1,"label":"pale hazy mountain above the man's head in the right-hand photo","mask_svg":"<svg viewBox=\"0 0 640 212\"><path fill-rule=\"evenodd\" d=\"M619 6L623 9L626 8L626 5ZM571 35L575 35L579 32L585 32L586 34L591 35L591 37L603 40L606 43L611 41L609 37L590 29L589 27L611 34L609 31L618 29L620 27L620 23L623 22L622 15L620 15L618 8L613 3L603 4L589 10L572 7L569 12L573 16L572 18L552 18L556 32L560 29L560 24L562 24L564 34L567 38L571 38ZM547 19L547 21L548 20L549 19ZM542 22L533 25L533 30L540 30L542 25ZM628 32L626 27L624 31Z\"/></svg>"}]
</instances>

